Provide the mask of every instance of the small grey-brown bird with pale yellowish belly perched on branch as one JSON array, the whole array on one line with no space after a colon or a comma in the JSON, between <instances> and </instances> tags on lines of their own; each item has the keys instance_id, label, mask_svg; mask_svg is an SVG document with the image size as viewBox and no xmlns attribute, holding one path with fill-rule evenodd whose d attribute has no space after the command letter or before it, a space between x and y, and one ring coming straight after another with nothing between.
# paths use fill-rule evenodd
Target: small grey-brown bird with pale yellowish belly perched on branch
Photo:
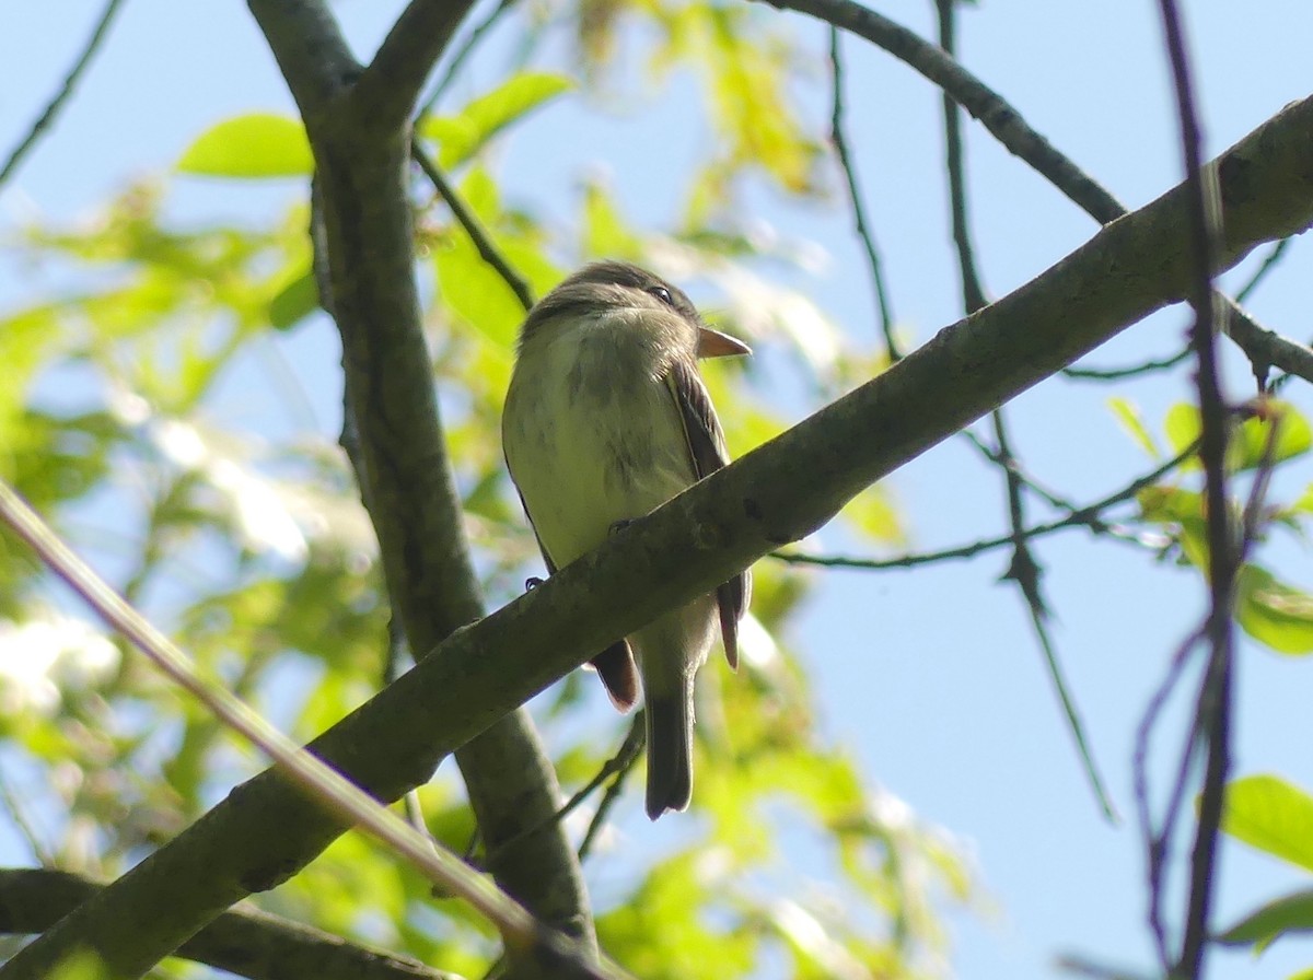
<instances>
[{"instance_id":1,"label":"small grey-brown bird with pale yellowish belly perched on branch","mask_svg":"<svg viewBox=\"0 0 1313 980\"><path fill-rule=\"evenodd\" d=\"M533 306L502 446L549 575L729 463L697 361L750 353L709 328L683 290L630 262L586 265ZM635 704L641 678L651 820L688 808L693 678L717 627L738 668L751 588L744 569L591 660L621 711Z\"/></svg>"}]
</instances>

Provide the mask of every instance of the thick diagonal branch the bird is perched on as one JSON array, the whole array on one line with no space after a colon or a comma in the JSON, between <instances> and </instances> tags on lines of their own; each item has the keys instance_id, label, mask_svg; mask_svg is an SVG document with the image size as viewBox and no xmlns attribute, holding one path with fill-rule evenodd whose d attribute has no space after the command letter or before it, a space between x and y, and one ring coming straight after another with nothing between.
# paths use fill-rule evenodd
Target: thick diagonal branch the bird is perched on
<instances>
[{"instance_id":1,"label":"thick diagonal branch the bird is perched on","mask_svg":"<svg viewBox=\"0 0 1313 980\"><path fill-rule=\"evenodd\" d=\"M1262 241L1308 228L1313 98L1288 106L1213 165L1222 206L1218 269ZM1180 300L1191 282L1186 228L1180 188L1113 222L1035 281L458 630L312 750L378 799L400 798L456 746L617 636L806 537L871 483ZM872 439L873 432L881 437ZM75 935L131 934L137 910L150 909L177 937L158 950L165 955L242 895L295 874L341 830L265 771L64 922L74 920Z\"/></svg>"}]
</instances>

